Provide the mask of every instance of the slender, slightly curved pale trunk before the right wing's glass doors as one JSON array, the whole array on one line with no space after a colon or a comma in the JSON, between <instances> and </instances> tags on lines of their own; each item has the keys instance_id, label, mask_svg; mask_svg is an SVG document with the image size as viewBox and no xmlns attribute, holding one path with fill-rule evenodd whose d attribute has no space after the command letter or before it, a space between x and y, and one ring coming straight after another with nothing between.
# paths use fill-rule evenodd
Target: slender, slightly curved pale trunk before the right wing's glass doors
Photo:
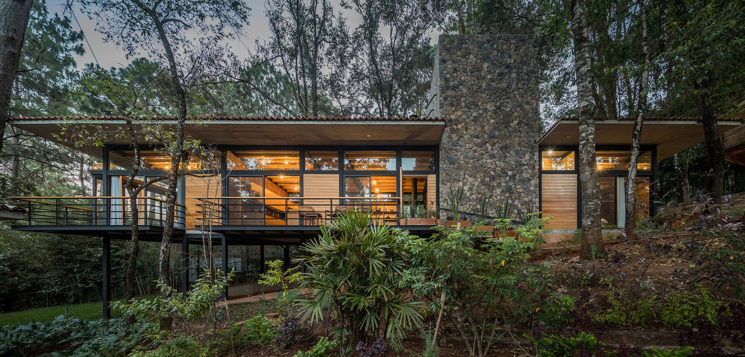
<instances>
[{"instance_id":1,"label":"slender, slightly curved pale trunk before the right wing's glass doors","mask_svg":"<svg viewBox=\"0 0 745 357\"><path fill-rule=\"evenodd\" d=\"M626 180L626 221L624 233L630 241L638 240L636 235L636 163L639 161L641 143L641 125L644 123L644 111L647 110L647 86L650 77L650 49L647 45L647 6L639 0L639 22L641 23L641 52L644 54L644 70L639 83L639 100L636 106L636 120L631 135L631 154L629 174Z\"/></svg>"}]
</instances>

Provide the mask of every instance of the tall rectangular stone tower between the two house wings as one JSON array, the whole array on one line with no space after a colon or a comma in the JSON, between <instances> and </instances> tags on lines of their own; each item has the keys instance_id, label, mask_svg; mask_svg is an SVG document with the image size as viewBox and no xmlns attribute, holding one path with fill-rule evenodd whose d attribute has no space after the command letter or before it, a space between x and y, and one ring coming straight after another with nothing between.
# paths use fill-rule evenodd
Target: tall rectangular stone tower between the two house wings
<instances>
[{"instance_id":1,"label":"tall rectangular stone tower between the two house wings","mask_svg":"<svg viewBox=\"0 0 745 357\"><path fill-rule=\"evenodd\" d=\"M492 216L504 200L513 218L538 210L538 75L534 35L440 36L426 112L447 121L440 207L461 186L464 212L478 213L484 197Z\"/></svg>"}]
</instances>

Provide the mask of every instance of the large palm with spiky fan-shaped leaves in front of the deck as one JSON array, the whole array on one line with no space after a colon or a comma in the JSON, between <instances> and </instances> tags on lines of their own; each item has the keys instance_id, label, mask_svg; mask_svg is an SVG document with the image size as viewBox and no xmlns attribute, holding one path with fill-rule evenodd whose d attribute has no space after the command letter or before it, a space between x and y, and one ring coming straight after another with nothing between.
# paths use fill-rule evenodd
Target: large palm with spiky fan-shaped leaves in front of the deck
<instances>
[{"instance_id":1,"label":"large palm with spiky fan-shaped leaves in front of the deck","mask_svg":"<svg viewBox=\"0 0 745 357\"><path fill-rule=\"evenodd\" d=\"M300 286L313 291L310 299L298 300L303 319L320 322L331 309L338 319L332 331L343 349L401 337L419 325L419 303L399 287L408 268L402 234L375 224L370 212L344 212L321 227L321 235L302 247L308 255L302 256L307 272Z\"/></svg>"}]
</instances>

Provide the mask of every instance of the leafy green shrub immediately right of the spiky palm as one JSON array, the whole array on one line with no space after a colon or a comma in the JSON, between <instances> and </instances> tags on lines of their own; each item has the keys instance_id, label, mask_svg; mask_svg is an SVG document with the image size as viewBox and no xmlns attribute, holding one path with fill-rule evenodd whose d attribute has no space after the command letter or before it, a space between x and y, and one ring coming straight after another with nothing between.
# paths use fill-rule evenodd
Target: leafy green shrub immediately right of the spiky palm
<instances>
[{"instance_id":1,"label":"leafy green shrub immediately right of the spiky palm","mask_svg":"<svg viewBox=\"0 0 745 357\"><path fill-rule=\"evenodd\" d=\"M519 238L487 238L472 227L438 227L432 239L404 242L411 268L402 286L410 288L429 309L454 323L472 355L489 353L497 326L542 323L558 326L568 320L574 300L560 294L545 263L528 262L529 250L542 244L549 218L536 218L518 229ZM498 229L509 221L497 220ZM441 309L443 306L444 309Z\"/></svg>"}]
</instances>

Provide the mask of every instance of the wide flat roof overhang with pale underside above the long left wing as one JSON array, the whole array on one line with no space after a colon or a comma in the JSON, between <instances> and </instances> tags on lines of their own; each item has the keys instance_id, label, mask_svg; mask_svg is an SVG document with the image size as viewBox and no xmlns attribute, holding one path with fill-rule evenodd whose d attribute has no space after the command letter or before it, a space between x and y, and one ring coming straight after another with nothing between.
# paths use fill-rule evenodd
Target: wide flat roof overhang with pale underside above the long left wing
<instances>
[{"instance_id":1,"label":"wide flat roof overhang with pale underside above the long left wing","mask_svg":"<svg viewBox=\"0 0 745 357\"><path fill-rule=\"evenodd\" d=\"M45 139L73 142L70 135L60 136L60 125L83 127L93 121L22 118L10 122L14 127ZM165 129L174 130L174 120L158 120ZM124 127L124 120L95 121L107 130ZM214 119L187 122L186 134L213 145L438 145L445 121L422 119L396 120L234 120ZM143 140L142 144L146 144ZM105 144L129 144L115 139Z\"/></svg>"}]
</instances>

